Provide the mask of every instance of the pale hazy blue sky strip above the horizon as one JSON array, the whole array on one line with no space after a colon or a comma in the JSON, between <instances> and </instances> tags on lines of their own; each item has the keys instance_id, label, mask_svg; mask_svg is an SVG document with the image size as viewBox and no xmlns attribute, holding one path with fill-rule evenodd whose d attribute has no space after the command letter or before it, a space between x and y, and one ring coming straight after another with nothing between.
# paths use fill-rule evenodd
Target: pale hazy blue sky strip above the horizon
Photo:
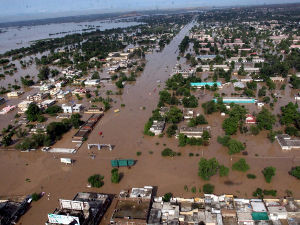
<instances>
[{"instance_id":1,"label":"pale hazy blue sky strip above the horizon","mask_svg":"<svg viewBox=\"0 0 300 225\"><path fill-rule=\"evenodd\" d=\"M300 3L300 0L0 0L0 20L148 9Z\"/></svg>"}]
</instances>

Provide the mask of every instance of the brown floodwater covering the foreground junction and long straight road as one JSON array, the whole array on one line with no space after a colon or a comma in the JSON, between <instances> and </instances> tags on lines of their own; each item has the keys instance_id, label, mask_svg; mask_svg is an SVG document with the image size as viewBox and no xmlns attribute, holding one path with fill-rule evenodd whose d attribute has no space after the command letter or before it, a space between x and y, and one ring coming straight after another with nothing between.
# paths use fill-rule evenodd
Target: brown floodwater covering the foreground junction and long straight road
<instances>
[{"instance_id":1,"label":"brown floodwater covering the foreground junction and long straight road","mask_svg":"<svg viewBox=\"0 0 300 225\"><path fill-rule=\"evenodd\" d=\"M220 126L223 118L219 114L207 117L213 136L211 144L207 147L179 148L178 141L174 138L143 135L144 124L151 116L152 110L156 108L158 92L163 88L158 87L157 80L161 80L163 86L163 82L168 79L171 69L176 64L177 47L191 27L193 23L184 27L162 52L146 56L147 64L143 74L134 85L125 86L122 96L113 97L116 101L113 108L105 113L90 134L88 141L75 155L48 154L41 151L0 152L2 181L0 195L46 192L41 200L32 204L32 208L21 218L19 224L44 224L47 213L51 213L58 207L59 198L72 199L79 191L117 194L122 189L152 185L158 187L159 195L172 192L176 196L196 196L184 191L184 186L187 185L189 189L193 186L198 188L207 183L197 174L201 156L216 157L226 166L231 166L241 157L241 155L230 157L226 149L217 143L216 137L223 135ZM199 100L200 105L210 98L211 96L205 95ZM125 107L120 107L121 103L125 104ZM114 113L113 110L117 108L120 112ZM201 107L199 112L203 113ZM103 136L98 135L99 131L103 132ZM71 136L74 133L75 130L70 131L56 146L71 146ZM246 178L246 173L233 171L230 171L229 176L225 178L215 175L209 182L215 185L216 194L228 193L239 197L251 197L252 192L257 187L261 187L276 189L279 196L283 196L285 190L289 189L296 197L300 197L299 181L288 175L288 170L292 166L299 165L299 152L281 152L278 144L271 144L266 135L262 133L259 136L234 137L246 143L249 154L245 158L251 167L249 173L255 173L257 179L249 180ZM107 149L88 150L87 143L112 144L114 148L111 152ZM182 156L161 157L161 151L166 147L180 151ZM141 156L137 156L136 152L142 152ZM199 156L189 157L188 154L191 152ZM96 154L95 159L91 159L92 153ZM66 166L59 162L59 157L70 157L76 162ZM137 163L130 169L121 168L122 180L119 184L111 184L110 160L116 158L135 159ZM277 168L271 184L264 181L261 173L266 166ZM104 186L100 189L87 188L87 178L96 173L104 175ZM27 178L30 182L26 181ZM47 198L49 193L50 197ZM110 215L106 215L105 218L102 224L108 224Z\"/></svg>"}]
</instances>

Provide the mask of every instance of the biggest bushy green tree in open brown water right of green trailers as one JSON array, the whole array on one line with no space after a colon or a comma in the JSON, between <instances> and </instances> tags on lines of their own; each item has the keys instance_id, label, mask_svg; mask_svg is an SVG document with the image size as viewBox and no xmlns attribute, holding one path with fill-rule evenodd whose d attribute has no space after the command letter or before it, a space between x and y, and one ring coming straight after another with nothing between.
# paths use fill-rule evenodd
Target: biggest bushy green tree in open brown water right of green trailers
<instances>
[{"instance_id":1,"label":"biggest bushy green tree in open brown water right of green trailers","mask_svg":"<svg viewBox=\"0 0 300 225\"><path fill-rule=\"evenodd\" d=\"M211 176L217 173L219 163L216 158L211 158L209 160L201 158L198 166L198 176L200 176L203 180L209 180Z\"/></svg>"}]
</instances>

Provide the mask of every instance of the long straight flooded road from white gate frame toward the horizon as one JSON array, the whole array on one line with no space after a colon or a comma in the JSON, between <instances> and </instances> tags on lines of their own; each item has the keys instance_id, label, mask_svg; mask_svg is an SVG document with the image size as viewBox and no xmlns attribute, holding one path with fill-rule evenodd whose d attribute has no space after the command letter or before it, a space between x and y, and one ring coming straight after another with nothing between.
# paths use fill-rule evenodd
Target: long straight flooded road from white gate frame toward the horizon
<instances>
[{"instance_id":1,"label":"long straight flooded road from white gate frame toward the horizon","mask_svg":"<svg viewBox=\"0 0 300 225\"><path fill-rule=\"evenodd\" d=\"M177 63L178 45L195 24L194 21L187 24L162 52L146 56L147 63L142 75L133 85L125 86L123 95L117 97L117 103L114 104L117 106L113 109L120 108L121 103L126 106L120 108L121 112L118 114L113 110L106 113L89 136L89 143L99 142L97 131L101 130L104 133L101 142L115 145L117 151L141 147L142 140L138 139L142 136L144 124L151 116L152 110L156 108L159 91ZM158 80L161 82L158 83ZM145 109L142 110L142 107Z\"/></svg>"}]
</instances>

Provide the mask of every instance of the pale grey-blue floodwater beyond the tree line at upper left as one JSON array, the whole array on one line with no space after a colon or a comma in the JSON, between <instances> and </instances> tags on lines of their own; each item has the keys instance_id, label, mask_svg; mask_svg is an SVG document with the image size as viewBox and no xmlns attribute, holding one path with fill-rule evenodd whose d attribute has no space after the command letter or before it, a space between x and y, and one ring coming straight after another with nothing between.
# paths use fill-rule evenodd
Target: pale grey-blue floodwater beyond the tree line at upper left
<instances>
[{"instance_id":1,"label":"pale grey-blue floodwater beyond the tree line at upper left","mask_svg":"<svg viewBox=\"0 0 300 225\"><path fill-rule=\"evenodd\" d=\"M40 39L63 37L67 34L90 32L96 29L125 28L139 24L138 22L92 21L3 28L1 29L3 32L0 33L0 54L15 48L28 47L30 42Z\"/></svg>"}]
</instances>

